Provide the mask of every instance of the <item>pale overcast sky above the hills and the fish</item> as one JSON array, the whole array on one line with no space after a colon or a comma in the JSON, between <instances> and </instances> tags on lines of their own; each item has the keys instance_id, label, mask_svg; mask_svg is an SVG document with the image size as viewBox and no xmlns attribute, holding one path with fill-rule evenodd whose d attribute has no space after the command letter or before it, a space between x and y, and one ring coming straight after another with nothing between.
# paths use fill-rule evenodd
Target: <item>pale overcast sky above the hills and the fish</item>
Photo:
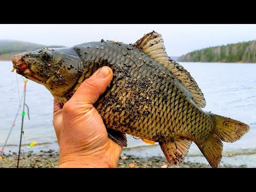
<instances>
[{"instance_id":1,"label":"pale overcast sky above the hills and the fish","mask_svg":"<svg viewBox=\"0 0 256 192\"><path fill-rule=\"evenodd\" d=\"M73 46L105 40L134 43L155 30L170 56L209 46L256 39L256 25L0 25L0 39Z\"/></svg>"}]
</instances>

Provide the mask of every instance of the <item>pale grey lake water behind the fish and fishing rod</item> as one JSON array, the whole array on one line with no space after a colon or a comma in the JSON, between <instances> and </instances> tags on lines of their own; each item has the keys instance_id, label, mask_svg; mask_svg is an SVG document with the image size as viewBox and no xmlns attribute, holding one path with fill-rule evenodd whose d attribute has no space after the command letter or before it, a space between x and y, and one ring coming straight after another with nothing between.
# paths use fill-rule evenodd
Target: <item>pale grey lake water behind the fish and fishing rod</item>
<instances>
[{"instance_id":1,"label":"pale grey lake water behind the fish and fishing rod","mask_svg":"<svg viewBox=\"0 0 256 192\"><path fill-rule=\"evenodd\" d=\"M190 72L203 91L206 99L204 110L237 119L251 126L250 132L241 140L224 144L223 156L249 155L251 159L248 161L251 164L247 164L256 166L256 64L202 62L180 62L180 64ZM10 72L11 61L0 61L0 66L3 72L0 82L1 148L17 113L19 96L16 74ZM20 75L17 76L21 98L23 78L20 78ZM27 116L25 117L25 142L22 143L29 145L30 142L36 141L39 145L35 146L33 150L58 149L52 126L53 97L51 93L43 85L28 81L26 103L29 107L30 120ZM21 113L13 127L5 153L9 150L18 151L20 125ZM25 150L26 147L22 148ZM151 146L130 136L128 137L128 148L124 151L138 155L163 155L158 145ZM202 157L196 145L191 146L188 155L189 157ZM244 157L242 159L244 161Z\"/></svg>"}]
</instances>

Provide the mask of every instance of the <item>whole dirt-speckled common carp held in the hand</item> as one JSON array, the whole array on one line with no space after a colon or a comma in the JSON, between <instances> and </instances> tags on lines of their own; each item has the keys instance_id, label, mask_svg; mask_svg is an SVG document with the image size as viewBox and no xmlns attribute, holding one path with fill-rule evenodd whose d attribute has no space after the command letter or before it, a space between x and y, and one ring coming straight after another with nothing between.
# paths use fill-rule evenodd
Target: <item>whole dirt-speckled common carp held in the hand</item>
<instances>
[{"instance_id":1,"label":"whole dirt-speckled common carp held in the hand","mask_svg":"<svg viewBox=\"0 0 256 192\"><path fill-rule=\"evenodd\" d=\"M202 110L206 102L194 78L165 52L155 31L134 44L104 41L40 49L13 56L17 73L44 85L62 105L102 66L114 72L94 107L110 139L125 147L126 134L159 142L177 166L195 142L212 167L222 157L222 141L239 140L250 127ZM13 70L14 70L13 69Z\"/></svg>"}]
</instances>

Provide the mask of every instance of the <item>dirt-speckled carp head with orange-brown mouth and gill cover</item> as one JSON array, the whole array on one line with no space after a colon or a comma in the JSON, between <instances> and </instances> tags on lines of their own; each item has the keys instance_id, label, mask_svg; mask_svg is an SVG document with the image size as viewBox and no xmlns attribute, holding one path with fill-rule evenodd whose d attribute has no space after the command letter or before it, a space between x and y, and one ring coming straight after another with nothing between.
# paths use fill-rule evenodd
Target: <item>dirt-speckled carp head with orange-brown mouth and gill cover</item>
<instances>
[{"instance_id":1,"label":"dirt-speckled carp head with orange-brown mouth and gill cover","mask_svg":"<svg viewBox=\"0 0 256 192\"><path fill-rule=\"evenodd\" d=\"M82 60L70 48L44 48L12 57L13 70L63 97L81 75Z\"/></svg>"}]
</instances>

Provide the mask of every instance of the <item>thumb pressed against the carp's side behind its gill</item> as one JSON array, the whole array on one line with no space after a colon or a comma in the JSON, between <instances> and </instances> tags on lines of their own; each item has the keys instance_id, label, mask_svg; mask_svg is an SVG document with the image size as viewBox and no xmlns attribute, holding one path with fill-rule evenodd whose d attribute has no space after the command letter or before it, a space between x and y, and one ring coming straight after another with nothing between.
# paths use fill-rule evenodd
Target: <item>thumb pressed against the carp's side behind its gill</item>
<instances>
[{"instance_id":1,"label":"thumb pressed against the carp's side behind its gill","mask_svg":"<svg viewBox=\"0 0 256 192\"><path fill-rule=\"evenodd\" d=\"M106 91L113 78L113 71L105 66L97 70L90 78L87 78L77 89L73 97L68 101L73 105L94 104L100 95Z\"/></svg>"}]
</instances>

